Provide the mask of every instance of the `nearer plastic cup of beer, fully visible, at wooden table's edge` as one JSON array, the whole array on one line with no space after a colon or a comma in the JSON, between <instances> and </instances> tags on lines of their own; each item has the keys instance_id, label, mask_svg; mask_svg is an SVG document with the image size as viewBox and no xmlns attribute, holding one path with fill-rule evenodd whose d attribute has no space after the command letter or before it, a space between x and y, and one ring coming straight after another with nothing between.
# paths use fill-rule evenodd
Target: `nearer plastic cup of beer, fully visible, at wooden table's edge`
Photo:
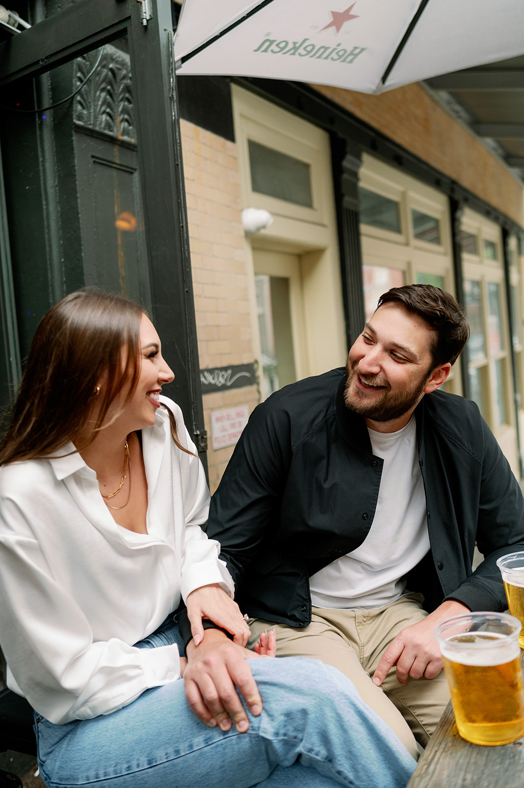
<instances>
[{"instance_id":1,"label":"nearer plastic cup of beer, fully visible, at wooden table's edge","mask_svg":"<svg viewBox=\"0 0 524 788\"><path fill-rule=\"evenodd\" d=\"M455 615L435 627L456 727L467 742L496 746L524 736L520 629L505 613Z\"/></svg>"}]
</instances>

